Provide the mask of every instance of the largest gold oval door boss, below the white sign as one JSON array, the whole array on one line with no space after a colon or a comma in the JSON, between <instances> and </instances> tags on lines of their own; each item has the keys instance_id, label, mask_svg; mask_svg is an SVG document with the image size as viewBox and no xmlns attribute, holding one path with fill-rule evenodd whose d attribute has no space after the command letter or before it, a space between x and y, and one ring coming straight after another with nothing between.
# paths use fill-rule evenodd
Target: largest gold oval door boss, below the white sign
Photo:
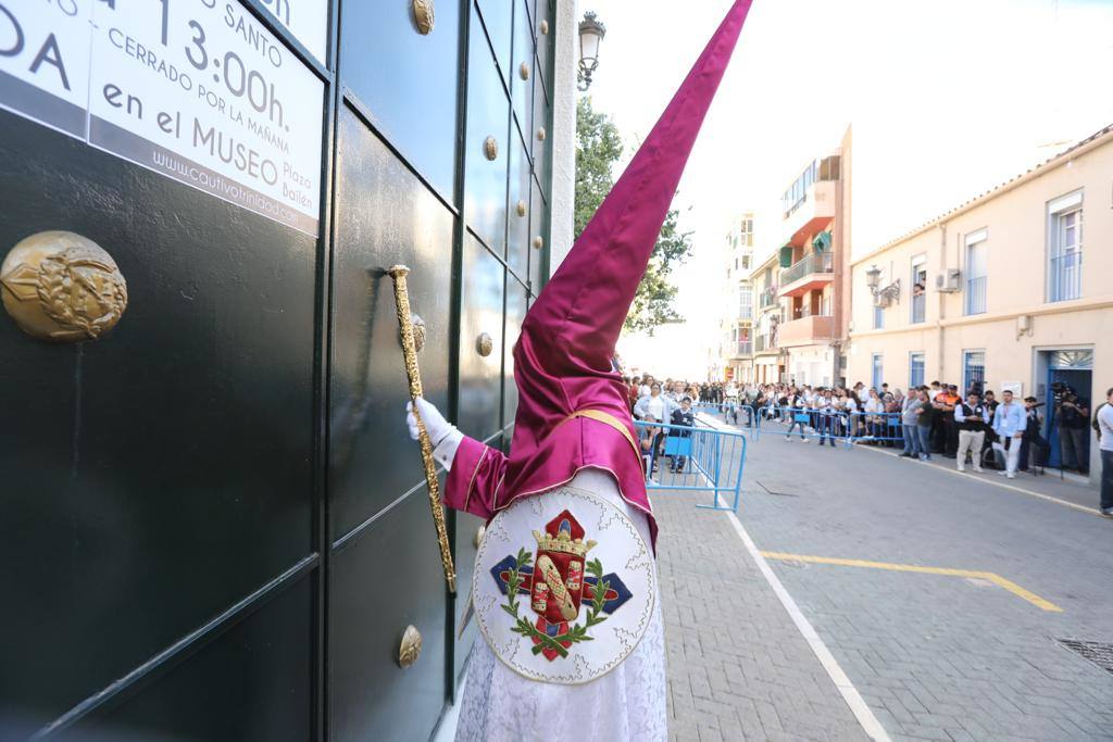
<instances>
[{"instance_id":1,"label":"largest gold oval door boss, below the white sign","mask_svg":"<svg viewBox=\"0 0 1113 742\"><path fill-rule=\"evenodd\" d=\"M71 231L40 231L11 248L0 265L0 295L20 329L52 342L96 340L128 307L112 256Z\"/></svg>"}]
</instances>

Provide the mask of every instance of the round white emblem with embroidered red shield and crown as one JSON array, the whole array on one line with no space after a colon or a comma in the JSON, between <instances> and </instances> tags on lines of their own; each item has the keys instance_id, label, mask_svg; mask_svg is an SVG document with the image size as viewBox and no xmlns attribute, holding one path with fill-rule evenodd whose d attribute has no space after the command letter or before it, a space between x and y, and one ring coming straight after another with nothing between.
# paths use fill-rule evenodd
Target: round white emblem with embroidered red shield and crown
<instances>
[{"instance_id":1,"label":"round white emblem with embroidered red shield and crown","mask_svg":"<svg viewBox=\"0 0 1113 742\"><path fill-rule=\"evenodd\" d=\"M561 487L491 521L475 556L475 617L511 670L574 685L617 667L641 641L657 598L653 555L598 495Z\"/></svg>"}]
</instances>

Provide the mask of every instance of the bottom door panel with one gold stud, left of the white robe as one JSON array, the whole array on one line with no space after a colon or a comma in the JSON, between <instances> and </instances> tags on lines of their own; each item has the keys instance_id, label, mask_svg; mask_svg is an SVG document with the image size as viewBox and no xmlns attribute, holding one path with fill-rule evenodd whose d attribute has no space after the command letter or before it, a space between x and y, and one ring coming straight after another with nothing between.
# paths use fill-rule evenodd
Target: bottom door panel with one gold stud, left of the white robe
<instances>
[{"instance_id":1,"label":"bottom door panel with one gold stud, left of the white robe","mask_svg":"<svg viewBox=\"0 0 1113 742\"><path fill-rule=\"evenodd\" d=\"M425 492L335 553L331 571L332 740L429 739L445 701L447 593ZM398 646L411 624L421 655L402 669Z\"/></svg>"}]
</instances>

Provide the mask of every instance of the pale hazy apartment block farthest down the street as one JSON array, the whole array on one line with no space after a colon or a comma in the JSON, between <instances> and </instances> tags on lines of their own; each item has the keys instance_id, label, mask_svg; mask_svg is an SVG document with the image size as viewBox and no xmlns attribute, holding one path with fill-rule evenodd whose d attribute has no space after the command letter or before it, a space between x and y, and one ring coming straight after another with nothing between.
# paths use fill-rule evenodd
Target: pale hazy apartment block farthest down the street
<instances>
[{"instance_id":1,"label":"pale hazy apartment block farthest down the street","mask_svg":"<svg viewBox=\"0 0 1113 742\"><path fill-rule=\"evenodd\" d=\"M749 384L754 380L754 214L743 214L727 234L720 308L719 368L716 378Z\"/></svg>"}]
</instances>

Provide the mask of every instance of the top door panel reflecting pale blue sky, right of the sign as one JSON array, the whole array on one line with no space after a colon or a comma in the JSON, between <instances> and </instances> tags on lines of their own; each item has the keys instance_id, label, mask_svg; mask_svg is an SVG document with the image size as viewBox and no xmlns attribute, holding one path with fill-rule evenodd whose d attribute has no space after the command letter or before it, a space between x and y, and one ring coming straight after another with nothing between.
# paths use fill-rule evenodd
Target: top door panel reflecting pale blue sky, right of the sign
<instances>
[{"instance_id":1,"label":"top door panel reflecting pale blue sky, right of the sign","mask_svg":"<svg viewBox=\"0 0 1113 742\"><path fill-rule=\"evenodd\" d=\"M408 2L345 2L341 75L375 127L452 199L456 156L460 2L437 2L429 34Z\"/></svg>"}]
</instances>

